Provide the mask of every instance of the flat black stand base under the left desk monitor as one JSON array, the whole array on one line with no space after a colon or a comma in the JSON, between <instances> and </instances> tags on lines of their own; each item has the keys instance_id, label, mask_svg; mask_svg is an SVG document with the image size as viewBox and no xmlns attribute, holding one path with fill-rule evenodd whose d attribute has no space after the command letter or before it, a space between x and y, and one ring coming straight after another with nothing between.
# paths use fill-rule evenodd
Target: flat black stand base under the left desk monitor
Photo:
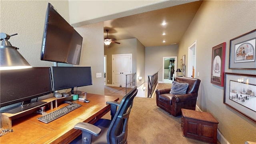
<instances>
[{"instance_id":1,"label":"flat black stand base under the left desk monitor","mask_svg":"<svg viewBox=\"0 0 256 144\"><path fill-rule=\"evenodd\" d=\"M5 112L5 113L9 113L9 114L16 114L18 112L22 112L24 110L28 110L30 108L34 108L36 106L40 106L42 104L45 104L46 102L31 102L31 103L28 103L28 104L22 104L23 105L18 105L18 106L13 106L13 107L10 107L10 108L7 108L5 110L1 110L1 112Z\"/></svg>"}]
</instances>

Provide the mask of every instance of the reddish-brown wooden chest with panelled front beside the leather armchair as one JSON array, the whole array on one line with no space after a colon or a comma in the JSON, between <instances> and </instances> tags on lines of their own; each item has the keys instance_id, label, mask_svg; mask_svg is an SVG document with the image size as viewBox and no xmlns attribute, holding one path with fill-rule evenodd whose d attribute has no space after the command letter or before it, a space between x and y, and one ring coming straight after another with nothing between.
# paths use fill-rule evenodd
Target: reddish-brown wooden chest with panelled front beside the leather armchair
<instances>
[{"instance_id":1,"label":"reddish-brown wooden chest with panelled front beside the leather armchair","mask_svg":"<svg viewBox=\"0 0 256 144\"><path fill-rule=\"evenodd\" d=\"M181 109L182 135L212 144L217 143L218 121L209 112Z\"/></svg>"}]
</instances>

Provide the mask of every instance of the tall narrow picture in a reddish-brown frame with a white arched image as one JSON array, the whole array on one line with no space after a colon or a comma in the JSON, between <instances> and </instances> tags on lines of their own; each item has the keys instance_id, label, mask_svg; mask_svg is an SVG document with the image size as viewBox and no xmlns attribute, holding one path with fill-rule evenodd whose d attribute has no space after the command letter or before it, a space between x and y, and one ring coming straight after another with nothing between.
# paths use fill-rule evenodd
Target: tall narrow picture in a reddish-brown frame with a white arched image
<instances>
[{"instance_id":1,"label":"tall narrow picture in a reddish-brown frame with a white arched image","mask_svg":"<svg viewBox=\"0 0 256 144\"><path fill-rule=\"evenodd\" d=\"M226 42L212 48L211 83L224 86Z\"/></svg>"}]
</instances>

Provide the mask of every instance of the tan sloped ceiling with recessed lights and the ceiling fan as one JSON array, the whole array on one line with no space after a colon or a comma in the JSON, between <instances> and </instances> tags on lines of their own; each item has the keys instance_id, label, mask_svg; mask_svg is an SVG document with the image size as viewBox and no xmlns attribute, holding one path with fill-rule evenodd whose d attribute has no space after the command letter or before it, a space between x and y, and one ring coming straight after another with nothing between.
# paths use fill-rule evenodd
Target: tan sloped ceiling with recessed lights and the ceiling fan
<instances>
[{"instance_id":1,"label":"tan sloped ceiling with recessed lights and the ceiling fan","mask_svg":"<svg viewBox=\"0 0 256 144\"><path fill-rule=\"evenodd\" d=\"M108 38L116 38L116 42L137 38L145 47L178 44L201 4L190 2L104 21L104 38L108 29ZM162 26L162 22L167 24Z\"/></svg>"}]
</instances>

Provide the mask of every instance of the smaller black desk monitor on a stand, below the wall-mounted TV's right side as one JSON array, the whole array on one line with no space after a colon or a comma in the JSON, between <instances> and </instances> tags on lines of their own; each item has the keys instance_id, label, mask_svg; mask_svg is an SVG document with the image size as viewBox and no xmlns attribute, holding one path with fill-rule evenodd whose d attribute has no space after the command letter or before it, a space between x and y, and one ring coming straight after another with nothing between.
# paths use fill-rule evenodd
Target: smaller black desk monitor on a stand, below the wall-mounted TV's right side
<instances>
[{"instance_id":1,"label":"smaller black desk monitor on a stand, below the wall-mounted TV's right side","mask_svg":"<svg viewBox=\"0 0 256 144\"><path fill-rule=\"evenodd\" d=\"M91 67L52 67L54 90L71 88L70 95L80 94L74 88L92 85Z\"/></svg>"}]
</instances>

